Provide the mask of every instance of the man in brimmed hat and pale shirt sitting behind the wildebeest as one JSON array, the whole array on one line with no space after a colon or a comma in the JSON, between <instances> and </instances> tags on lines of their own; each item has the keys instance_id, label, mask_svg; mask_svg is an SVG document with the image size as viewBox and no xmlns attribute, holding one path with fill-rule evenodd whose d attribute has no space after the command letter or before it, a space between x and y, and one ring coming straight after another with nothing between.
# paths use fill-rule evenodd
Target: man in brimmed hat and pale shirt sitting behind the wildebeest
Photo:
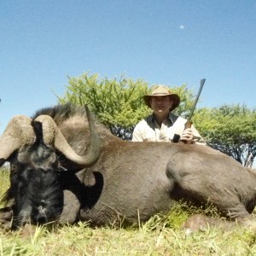
<instances>
[{"instance_id":1,"label":"man in brimmed hat and pale shirt sitting behind the wildebeest","mask_svg":"<svg viewBox=\"0 0 256 256\"><path fill-rule=\"evenodd\" d=\"M151 95L143 98L153 113L135 126L133 142L172 142L177 134L186 143L206 144L194 125L184 130L187 120L172 113L179 105L180 97L168 87L158 84Z\"/></svg>"}]
</instances>

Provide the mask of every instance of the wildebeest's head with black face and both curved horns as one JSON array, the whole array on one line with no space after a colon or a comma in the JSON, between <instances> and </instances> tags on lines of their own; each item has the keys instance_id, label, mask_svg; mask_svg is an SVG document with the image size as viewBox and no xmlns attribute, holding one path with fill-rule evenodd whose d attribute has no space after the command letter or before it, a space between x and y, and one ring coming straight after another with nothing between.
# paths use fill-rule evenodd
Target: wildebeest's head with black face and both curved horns
<instances>
[{"instance_id":1,"label":"wildebeest's head with black face and both curved horns","mask_svg":"<svg viewBox=\"0 0 256 256\"><path fill-rule=\"evenodd\" d=\"M14 200L16 224L47 223L55 220L63 209L63 189L59 155L80 168L90 166L100 154L99 137L87 110L91 132L89 153L76 154L55 121L48 115L32 120L18 116L9 122L0 138L0 166L11 164L10 188L5 200ZM71 170L68 170L69 172Z\"/></svg>"}]
</instances>

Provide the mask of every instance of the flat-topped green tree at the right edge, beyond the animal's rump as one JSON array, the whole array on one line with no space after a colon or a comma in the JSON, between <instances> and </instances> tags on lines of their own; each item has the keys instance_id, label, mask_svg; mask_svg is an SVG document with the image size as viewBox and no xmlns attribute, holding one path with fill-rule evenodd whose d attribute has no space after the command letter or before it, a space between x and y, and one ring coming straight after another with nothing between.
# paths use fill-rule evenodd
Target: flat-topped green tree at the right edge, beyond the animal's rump
<instances>
[{"instance_id":1,"label":"flat-topped green tree at the right edge, beyond the animal's rump","mask_svg":"<svg viewBox=\"0 0 256 256\"><path fill-rule=\"evenodd\" d=\"M248 154L256 155L256 110L245 105L203 108L195 122L207 144L246 164Z\"/></svg>"}]
</instances>

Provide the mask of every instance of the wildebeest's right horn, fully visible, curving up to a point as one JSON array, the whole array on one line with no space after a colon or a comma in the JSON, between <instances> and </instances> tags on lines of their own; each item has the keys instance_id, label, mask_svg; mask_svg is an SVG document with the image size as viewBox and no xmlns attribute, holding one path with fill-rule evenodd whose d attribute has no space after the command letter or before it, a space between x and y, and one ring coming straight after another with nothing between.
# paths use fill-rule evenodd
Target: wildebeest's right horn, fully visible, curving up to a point
<instances>
[{"instance_id":1,"label":"wildebeest's right horn, fully visible, curving up to a point","mask_svg":"<svg viewBox=\"0 0 256 256\"><path fill-rule=\"evenodd\" d=\"M85 106L87 119L90 128L90 148L88 154L80 156L73 148L67 143L66 138L62 135L60 129L55 124L54 119L49 115L39 115L35 120L42 123L44 143L54 145L56 149L61 151L68 160L73 161L79 166L90 166L93 164L100 155L101 143L100 138L96 133L96 127L92 120L91 114L87 106Z\"/></svg>"}]
</instances>

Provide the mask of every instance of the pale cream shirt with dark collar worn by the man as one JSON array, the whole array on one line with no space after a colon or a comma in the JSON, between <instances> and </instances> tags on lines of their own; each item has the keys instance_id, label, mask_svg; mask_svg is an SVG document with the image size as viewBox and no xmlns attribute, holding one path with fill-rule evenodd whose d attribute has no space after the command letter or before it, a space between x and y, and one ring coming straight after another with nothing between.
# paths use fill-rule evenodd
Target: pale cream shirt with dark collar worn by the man
<instances>
[{"instance_id":1,"label":"pale cream shirt with dark collar worn by the man","mask_svg":"<svg viewBox=\"0 0 256 256\"><path fill-rule=\"evenodd\" d=\"M177 116L170 112L161 126L154 119L154 115L150 114L147 118L141 120L134 128L132 134L133 142L172 142L174 134L182 136L184 125L187 119ZM198 144L206 144L200 133L192 125L191 129L194 133L193 141Z\"/></svg>"}]
</instances>

